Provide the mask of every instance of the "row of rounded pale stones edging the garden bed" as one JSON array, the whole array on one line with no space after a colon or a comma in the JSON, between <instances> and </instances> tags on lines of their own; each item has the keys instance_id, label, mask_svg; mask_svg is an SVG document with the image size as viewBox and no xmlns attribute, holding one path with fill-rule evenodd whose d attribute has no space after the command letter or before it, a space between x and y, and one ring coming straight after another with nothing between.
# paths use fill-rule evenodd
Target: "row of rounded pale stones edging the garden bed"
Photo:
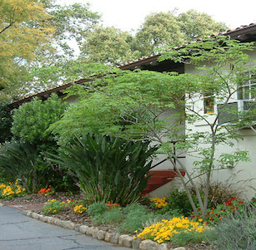
<instances>
[{"instance_id":1,"label":"row of rounded pale stones edging the garden bed","mask_svg":"<svg viewBox=\"0 0 256 250\"><path fill-rule=\"evenodd\" d=\"M1 206L1 203L0 203ZM140 250L186 250L186 248L170 248L166 243L158 244L152 240L146 239L142 240L139 238L133 238L128 234L120 233L108 233L103 230L98 229L97 227L88 227L87 225L73 223L72 221L61 220L59 218L54 218L50 216L44 216L39 213L34 213L30 210L23 211L23 214L41 220L43 223L50 223L58 227L66 228L69 230L75 230L79 233L87 234L92 236L92 238L97 238L98 240L103 240L107 243L118 244L127 248L134 248Z\"/></svg>"}]
</instances>

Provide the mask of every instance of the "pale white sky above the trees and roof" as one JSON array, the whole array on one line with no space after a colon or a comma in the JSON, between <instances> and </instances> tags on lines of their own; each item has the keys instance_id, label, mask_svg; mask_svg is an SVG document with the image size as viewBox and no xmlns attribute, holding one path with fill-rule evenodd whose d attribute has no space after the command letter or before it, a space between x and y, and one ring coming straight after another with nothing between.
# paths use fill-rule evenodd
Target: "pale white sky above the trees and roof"
<instances>
[{"instance_id":1,"label":"pale white sky above the trees and roof","mask_svg":"<svg viewBox=\"0 0 256 250\"><path fill-rule=\"evenodd\" d=\"M117 27L123 31L136 31L152 12L173 11L178 13L194 9L205 12L217 22L224 22L233 29L256 22L255 0L58 0L61 4L89 2L93 12L102 14L105 27Z\"/></svg>"}]
</instances>

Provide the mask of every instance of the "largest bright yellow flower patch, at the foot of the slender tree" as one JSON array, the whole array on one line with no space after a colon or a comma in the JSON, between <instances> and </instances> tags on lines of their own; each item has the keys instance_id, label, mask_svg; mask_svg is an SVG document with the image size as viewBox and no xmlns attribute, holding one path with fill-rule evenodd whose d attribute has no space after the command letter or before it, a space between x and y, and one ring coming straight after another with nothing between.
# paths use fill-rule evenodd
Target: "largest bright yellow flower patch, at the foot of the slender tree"
<instances>
[{"instance_id":1,"label":"largest bright yellow flower patch, at the foot of the slender tree","mask_svg":"<svg viewBox=\"0 0 256 250\"><path fill-rule=\"evenodd\" d=\"M188 218L163 219L158 223L144 228L143 232L138 233L137 237L142 239L151 239L157 243L171 241L175 233L193 231L201 233L205 230L204 224L193 222Z\"/></svg>"}]
</instances>

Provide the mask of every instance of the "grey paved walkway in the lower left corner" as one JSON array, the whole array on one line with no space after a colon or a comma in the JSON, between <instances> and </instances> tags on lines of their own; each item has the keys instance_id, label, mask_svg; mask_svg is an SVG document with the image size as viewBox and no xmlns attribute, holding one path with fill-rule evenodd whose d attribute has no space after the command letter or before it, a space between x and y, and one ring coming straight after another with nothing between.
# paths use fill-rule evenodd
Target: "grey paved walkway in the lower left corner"
<instances>
[{"instance_id":1,"label":"grey paved walkway in the lower left corner","mask_svg":"<svg viewBox=\"0 0 256 250\"><path fill-rule=\"evenodd\" d=\"M0 250L131 250L0 207Z\"/></svg>"}]
</instances>

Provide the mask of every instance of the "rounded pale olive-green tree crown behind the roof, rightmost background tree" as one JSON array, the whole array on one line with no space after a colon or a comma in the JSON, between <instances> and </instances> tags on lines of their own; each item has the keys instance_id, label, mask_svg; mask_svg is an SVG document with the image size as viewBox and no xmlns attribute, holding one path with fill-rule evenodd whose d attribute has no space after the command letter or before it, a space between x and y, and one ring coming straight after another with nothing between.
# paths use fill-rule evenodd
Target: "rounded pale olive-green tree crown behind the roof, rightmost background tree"
<instances>
[{"instance_id":1,"label":"rounded pale olive-green tree crown behind the roof, rightmost background tree","mask_svg":"<svg viewBox=\"0 0 256 250\"><path fill-rule=\"evenodd\" d=\"M223 22L216 22L203 12L189 10L177 15L172 12L153 12L148 15L136 32L137 50L148 56L155 50L191 42L227 29Z\"/></svg>"}]
</instances>

